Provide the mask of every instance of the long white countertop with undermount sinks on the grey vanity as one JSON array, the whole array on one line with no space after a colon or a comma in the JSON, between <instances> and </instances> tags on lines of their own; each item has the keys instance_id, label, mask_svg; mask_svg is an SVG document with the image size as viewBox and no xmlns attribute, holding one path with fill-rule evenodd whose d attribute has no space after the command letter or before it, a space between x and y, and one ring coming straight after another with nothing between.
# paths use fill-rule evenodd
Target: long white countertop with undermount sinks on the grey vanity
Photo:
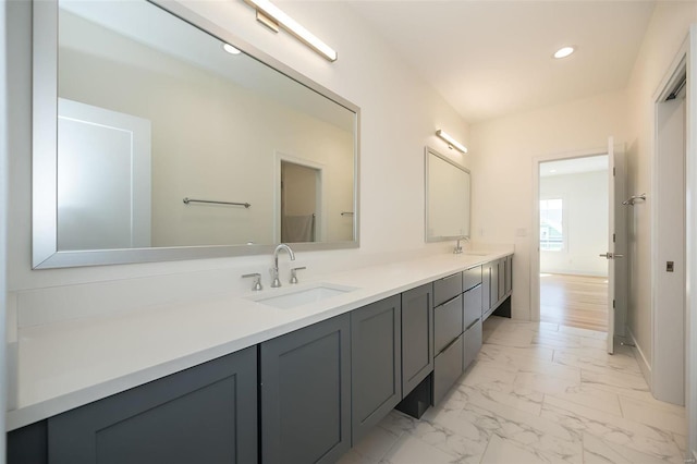
<instances>
[{"instance_id":1,"label":"long white countertop with undermount sinks on the grey vanity","mask_svg":"<svg viewBox=\"0 0 697 464\"><path fill-rule=\"evenodd\" d=\"M290 309L247 300L286 285L22 329L17 407L8 412L8 430L512 253L443 254L322 276L294 288L326 282L356 290Z\"/></svg>"}]
</instances>

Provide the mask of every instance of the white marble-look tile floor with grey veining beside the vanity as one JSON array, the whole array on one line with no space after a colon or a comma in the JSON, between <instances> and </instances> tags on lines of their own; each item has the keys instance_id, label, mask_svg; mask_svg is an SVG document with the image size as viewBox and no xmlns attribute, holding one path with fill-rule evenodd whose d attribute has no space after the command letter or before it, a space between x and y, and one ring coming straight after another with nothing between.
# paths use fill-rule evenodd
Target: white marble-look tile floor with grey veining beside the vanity
<instances>
[{"instance_id":1,"label":"white marble-look tile floor with grey veining beside the vanity","mask_svg":"<svg viewBox=\"0 0 697 464\"><path fill-rule=\"evenodd\" d=\"M420 420L393 411L341 464L683 463L684 407L606 333L490 317L477 359Z\"/></svg>"}]
</instances>

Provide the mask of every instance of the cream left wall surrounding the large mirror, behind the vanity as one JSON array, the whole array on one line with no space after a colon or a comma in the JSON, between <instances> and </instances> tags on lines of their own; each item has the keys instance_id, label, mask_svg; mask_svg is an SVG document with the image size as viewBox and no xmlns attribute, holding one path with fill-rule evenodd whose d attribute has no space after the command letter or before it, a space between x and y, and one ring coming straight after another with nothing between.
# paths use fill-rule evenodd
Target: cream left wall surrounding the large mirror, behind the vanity
<instances>
[{"instance_id":1,"label":"cream left wall surrounding the large mirror, behind the vanity","mask_svg":"<svg viewBox=\"0 0 697 464\"><path fill-rule=\"evenodd\" d=\"M339 51L329 63L283 32L272 34L244 2L187 3L261 51L353 101L360 124L360 248L298 254L306 276L365 265L380 256L406 258L442 244L424 243L424 146L448 152L436 129L467 144L468 126L354 13L341 4L291 2L283 8ZM270 256L34 271L30 269L30 3L8 2L12 25L9 66L13 100L10 133L9 290L21 325L142 307L246 289L245 272L268 276ZM465 167L467 156L455 156ZM405 253L409 252L409 253ZM298 265L302 265L298 264ZM283 262L282 266L286 266ZM286 270L286 269L285 269ZM283 271L283 269L282 269Z\"/></svg>"}]
</instances>

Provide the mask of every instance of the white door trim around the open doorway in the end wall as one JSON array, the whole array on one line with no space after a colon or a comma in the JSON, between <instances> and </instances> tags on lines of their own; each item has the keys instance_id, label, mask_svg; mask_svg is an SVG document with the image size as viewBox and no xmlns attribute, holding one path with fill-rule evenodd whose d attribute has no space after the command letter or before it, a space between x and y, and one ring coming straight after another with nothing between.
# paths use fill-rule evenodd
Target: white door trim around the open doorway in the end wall
<instances>
[{"instance_id":1,"label":"white door trim around the open doorway in the end wall","mask_svg":"<svg viewBox=\"0 0 697 464\"><path fill-rule=\"evenodd\" d=\"M533 228L530 239L530 320L540 320L540 164L608 155L608 147L542 155L533 158Z\"/></svg>"}]
</instances>

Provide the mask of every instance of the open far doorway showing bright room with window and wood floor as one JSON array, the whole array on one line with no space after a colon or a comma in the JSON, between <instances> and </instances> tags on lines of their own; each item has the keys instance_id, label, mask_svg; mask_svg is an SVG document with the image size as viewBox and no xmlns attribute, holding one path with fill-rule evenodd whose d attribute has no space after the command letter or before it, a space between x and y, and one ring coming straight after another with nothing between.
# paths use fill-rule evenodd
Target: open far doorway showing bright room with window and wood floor
<instances>
[{"instance_id":1,"label":"open far doorway showing bright room with window and wood floor","mask_svg":"<svg viewBox=\"0 0 697 464\"><path fill-rule=\"evenodd\" d=\"M540 320L608 331L608 155L539 163Z\"/></svg>"}]
</instances>

